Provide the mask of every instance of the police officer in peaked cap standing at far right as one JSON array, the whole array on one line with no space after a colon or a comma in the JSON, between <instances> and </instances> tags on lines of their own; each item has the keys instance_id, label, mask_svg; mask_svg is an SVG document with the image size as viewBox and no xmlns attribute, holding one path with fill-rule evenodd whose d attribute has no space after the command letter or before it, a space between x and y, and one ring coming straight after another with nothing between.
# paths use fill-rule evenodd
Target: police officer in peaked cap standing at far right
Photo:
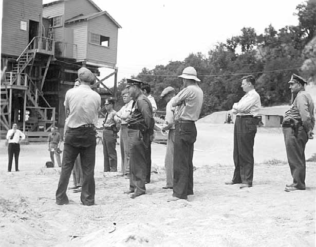
<instances>
[{"instance_id":1,"label":"police officer in peaked cap standing at far right","mask_svg":"<svg viewBox=\"0 0 316 247\"><path fill-rule=\"evenodd\" d=\"M305 189L305 145L313 138L315 125L314 103L305 91L307 83L302 77L293 74L288 82L292 93L291 108L286 111L282 129L287 160L290 165L293 183L285 186L285 191Z\"/></svg>"}]
</instances>

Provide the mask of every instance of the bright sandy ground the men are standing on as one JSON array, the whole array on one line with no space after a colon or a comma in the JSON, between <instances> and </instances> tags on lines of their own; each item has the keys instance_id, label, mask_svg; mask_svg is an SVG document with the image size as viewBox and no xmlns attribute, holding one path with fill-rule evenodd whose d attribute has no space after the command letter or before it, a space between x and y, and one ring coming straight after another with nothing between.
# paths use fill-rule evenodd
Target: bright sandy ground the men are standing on
<instances>
[{"instance_id":1,"label":"bright sandy ground the men are standing on","mask_svg":"<svg viewBox=\"0 0 316 247\"><path fill-rule=\"evenodd\" d=\"M44 168L47 144L21 146L21 171L8 173L0 142L0 246L314 246L316 163L307 163L305 191L285 192L291 175L281 130L259 128L254 186L225 185L233 173L233 125L197 128L195 195L176 202L167 202L172 191L161 188L164 145L152 146L158 173L146 195L129 199L122 193L128 180L101 172L99 144L96 205L87 207L70 191L69 205L55 204L59 169ZM306 147L307 158L313 153L316 139Z\"/></svg>"}]
</instances>

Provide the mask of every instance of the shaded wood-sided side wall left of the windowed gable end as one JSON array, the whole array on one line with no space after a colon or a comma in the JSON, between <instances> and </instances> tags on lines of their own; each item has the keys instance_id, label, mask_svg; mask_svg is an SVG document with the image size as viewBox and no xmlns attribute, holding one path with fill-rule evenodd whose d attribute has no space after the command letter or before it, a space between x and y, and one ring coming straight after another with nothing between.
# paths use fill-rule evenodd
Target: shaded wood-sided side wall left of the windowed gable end
<instances>
[{"instance_id":1,"label":"shaded wood-sided side wall left of the windowed gable end","mask_svg":"<svg viewBox=\"0 0 316 247\"><path fill-rule=\"evenodd\" d=\"M77 60L87 57L87 22L76 22L66 25L73 29L73 44L77 45ZM76 56L76 51L74 51Z\"/></svg>"}]
</instances>

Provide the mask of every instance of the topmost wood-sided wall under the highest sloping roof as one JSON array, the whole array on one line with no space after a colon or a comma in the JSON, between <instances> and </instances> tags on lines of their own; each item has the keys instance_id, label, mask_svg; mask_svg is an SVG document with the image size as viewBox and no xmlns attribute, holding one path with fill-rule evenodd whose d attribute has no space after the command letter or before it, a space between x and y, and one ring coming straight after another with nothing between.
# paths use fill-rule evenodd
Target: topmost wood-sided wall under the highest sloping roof
<instances>
[{"instance_id":1,"label":"topmost wood-sided wall under the highest sloping roof","mask_svg":"<svg viewBox=\"0 0 316 247\"><path fill-rule=\"evenodd\" d=\"M65 21L79 14L98 13L99 10L87 0L69 0L65 2Z\"/></svg>"}]
</instances>

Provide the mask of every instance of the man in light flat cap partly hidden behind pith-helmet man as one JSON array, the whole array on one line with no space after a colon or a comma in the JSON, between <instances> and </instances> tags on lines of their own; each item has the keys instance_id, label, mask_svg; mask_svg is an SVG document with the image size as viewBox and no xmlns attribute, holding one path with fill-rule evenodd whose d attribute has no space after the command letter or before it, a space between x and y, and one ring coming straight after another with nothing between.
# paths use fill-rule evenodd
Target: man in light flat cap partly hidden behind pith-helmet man
<instances>
[{"instance_id":1,"label":"man in light flat cap partly hidden behind pith-helmet man","mask_svg":"<svg viewBox=\"0 0 316 247\"><path fill-rule=\"evenodd\" d=\"M176 92L172 86L166 87L160 95L161 99L164 99L167 102L165 108L165 124L161 128L162 131L169 130L167 148L164 158L164 170L166 175L166 185L163 186L163 189L172 189L173 188L173 155L174 155L174 143L175 143L175 123L174 115L176 107L173 107L172 99L176 96Z\"/></svg>"}]
</instances>

